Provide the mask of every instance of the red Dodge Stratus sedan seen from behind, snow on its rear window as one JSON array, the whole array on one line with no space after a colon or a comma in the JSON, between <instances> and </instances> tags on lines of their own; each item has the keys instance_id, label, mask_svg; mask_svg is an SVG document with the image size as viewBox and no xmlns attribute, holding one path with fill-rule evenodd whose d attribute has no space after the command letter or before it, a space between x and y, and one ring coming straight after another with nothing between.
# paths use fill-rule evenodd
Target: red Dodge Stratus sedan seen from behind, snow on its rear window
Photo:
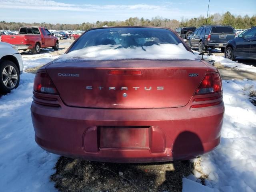
<instances>
[{"instance_id":1,"label":"red Dodge Stratus sedan seen from behind, snow on its rear window","mask_svg":"<svg viewBox=\"0 0 256 192\"><path fill-rule=\"evenodd\" d=\"M187 160L220 143L216 68L168 28L88 30L34 79L35 140L103 162Z\"/></svg>"}]
</instances>

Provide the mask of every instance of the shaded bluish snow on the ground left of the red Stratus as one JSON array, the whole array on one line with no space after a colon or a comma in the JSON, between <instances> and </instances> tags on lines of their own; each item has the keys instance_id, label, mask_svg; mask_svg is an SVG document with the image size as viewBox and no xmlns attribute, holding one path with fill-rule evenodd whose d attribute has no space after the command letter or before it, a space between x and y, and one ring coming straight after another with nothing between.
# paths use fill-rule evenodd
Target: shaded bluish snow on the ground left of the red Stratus
<instances>
[{"instance_id":1,"label":"shaded bluish snow on the ground left of the red Stratus","mask_svg":"<svg viewBox=\"0 0 256 192\"><path fill-rule=\"evenodd\" d=\"M34 74L24 72L20 77L20 86L0 97L1 191L57 191L49 176L58 156L34 141L30 116Z\"/></svg>"}]
</instances>

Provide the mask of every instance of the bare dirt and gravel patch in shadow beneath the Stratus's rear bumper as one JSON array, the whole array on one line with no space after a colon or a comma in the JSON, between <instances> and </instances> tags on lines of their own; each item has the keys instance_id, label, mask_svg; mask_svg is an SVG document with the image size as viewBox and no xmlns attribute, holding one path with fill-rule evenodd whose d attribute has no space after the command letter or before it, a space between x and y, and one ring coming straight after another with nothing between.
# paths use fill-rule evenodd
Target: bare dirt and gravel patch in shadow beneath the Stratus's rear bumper
<instances>
[{"instance_id":1,"label":"bare dirt and gravel patch in shadow beneath the Stratus's rear bumper","mask_svg":"<svg viewBox=\"0 0 256 192\"><path fill-rule=\"evenodd\" d=\"M60 157L50 179L62 192L181 192L182 178L195 168L200 171L200 163L118 164Z\"/></svg>"}]
</instances>

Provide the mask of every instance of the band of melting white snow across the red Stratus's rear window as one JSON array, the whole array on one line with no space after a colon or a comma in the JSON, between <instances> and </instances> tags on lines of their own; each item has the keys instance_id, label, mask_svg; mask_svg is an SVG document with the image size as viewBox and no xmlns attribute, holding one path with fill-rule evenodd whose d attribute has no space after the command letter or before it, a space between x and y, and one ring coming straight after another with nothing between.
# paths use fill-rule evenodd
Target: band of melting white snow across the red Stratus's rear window
<instances>
[{"instance_id":1,"label":"band of melting white snow across the red Stratus's rear window","mask_svg":"<svg viewBox=\"0 0 256 192\"><path fill-rule=\"evenodd\" d=\"M127 34L126 34L127 35ZM183 44L160 44L152 46L118 48L121 45L98 45L74 50L63 54L59 62L65 58L83 58L84 60L119 60L119 59L188 59L195 60L197 57L186 50Z\"/></svg>"}]
</instances>

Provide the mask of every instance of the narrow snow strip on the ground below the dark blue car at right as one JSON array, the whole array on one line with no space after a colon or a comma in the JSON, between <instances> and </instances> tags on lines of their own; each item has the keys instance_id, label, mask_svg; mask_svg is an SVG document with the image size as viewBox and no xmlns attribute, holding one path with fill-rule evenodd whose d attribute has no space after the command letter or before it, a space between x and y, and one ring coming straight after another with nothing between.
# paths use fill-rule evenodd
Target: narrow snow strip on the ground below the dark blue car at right
<instances>
[{"instance_id":1,"label":"narrow snow strip on the ground below the dark blue car at right","mask_svg":"<svg viewBox=\"0 0 256 192\"><path fill-rule=\"evenodd\" d=\"M194 54L198 55L199 52L194 51ZM198 56L198 58L202 58L202 56ZM204 58L207 60L214 60L215 62L219 62L220 64L222 64L226 67L230 67L230 68L236 67L236 69L246 70L246 71L256 73L256 67L254 67L252 65L245 65L242 63L238 63L238 61L232 61L230 59L225 58L224 56L204 55Z\"/></svg>"}]
</instances>

